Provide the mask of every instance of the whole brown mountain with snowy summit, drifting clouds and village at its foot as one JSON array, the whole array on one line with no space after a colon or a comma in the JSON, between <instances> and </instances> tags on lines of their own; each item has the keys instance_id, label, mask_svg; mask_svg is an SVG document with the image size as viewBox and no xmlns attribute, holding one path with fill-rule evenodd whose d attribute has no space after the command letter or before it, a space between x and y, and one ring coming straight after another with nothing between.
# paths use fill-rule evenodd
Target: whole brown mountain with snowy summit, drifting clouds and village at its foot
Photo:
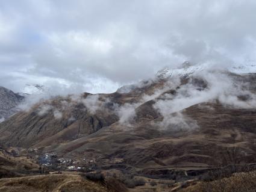
<instances>
[{"instance_id":1,"label":"whole brown mountain with snowy summit, drifting clouds and village at its foot","mask_svg":"<svg viewBox=\"0 0 256 192\"><path fill-rule=\"evenodd\" d=\"M198 179L218 165L253 166L256 73L189 63L183 72L164 70L166 77L130 90L40 101L0 123L0 144L49 169L84 167L148 182Z\"/></svg>"}]
</instances>

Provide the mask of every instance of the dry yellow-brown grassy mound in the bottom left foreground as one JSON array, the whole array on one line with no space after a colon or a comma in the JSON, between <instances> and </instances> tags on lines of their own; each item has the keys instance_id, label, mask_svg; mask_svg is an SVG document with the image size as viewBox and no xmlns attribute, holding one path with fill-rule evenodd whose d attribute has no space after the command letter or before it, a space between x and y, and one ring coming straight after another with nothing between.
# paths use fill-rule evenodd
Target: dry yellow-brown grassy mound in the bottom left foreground
<instances>
[{"instance_id":1,"label":"dry yellow-brown grassy mound in the bottom left foreground","mask_svg":"<svg viewBox=\"0 0 256 192\"><path fill-rule=\"evenodd\" d=\"M126 188L117 181L92 182L78 175L41 175L0 179L1 192L117 192Z\"/></svg>"}]
</instances>

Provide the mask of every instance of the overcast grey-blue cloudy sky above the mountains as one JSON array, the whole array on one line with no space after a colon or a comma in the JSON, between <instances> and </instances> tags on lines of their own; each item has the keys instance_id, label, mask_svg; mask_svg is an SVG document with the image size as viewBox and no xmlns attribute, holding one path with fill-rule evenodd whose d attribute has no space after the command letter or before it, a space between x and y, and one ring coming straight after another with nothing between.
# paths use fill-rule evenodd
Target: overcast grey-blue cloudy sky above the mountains
<instances>
[{"instance_id":1,"label":"overcast grey-blue cloudy sky above the mountains","mask_svg":"<svg viewBox=\"0 0 256 192\"><path fill-rule=\"evenodd\" d=\"M256 1L0 1L0 85L111 93L184 61L256 63Z\"/></svg>"}]
</instances>

